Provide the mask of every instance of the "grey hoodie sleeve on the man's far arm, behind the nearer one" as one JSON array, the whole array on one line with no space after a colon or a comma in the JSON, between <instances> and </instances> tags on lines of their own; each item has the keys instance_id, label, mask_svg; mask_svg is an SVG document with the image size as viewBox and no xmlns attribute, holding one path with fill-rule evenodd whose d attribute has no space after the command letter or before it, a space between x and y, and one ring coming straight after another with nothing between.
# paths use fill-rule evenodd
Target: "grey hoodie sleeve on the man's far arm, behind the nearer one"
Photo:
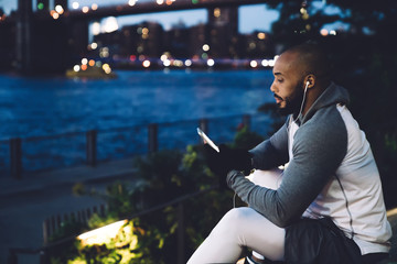
<instances>
[{"instance_id":1,"label":"grey hoodie sleeve on the man's far arm, behind the nearer one","mask_svg":"<svg viewBox=\"0 0 397 264\"><path fill-rule=\"evenodd\" d=\"M264 141L249 151L253 156L254 168L270 169L288 162L287 124L281 127L269 140Z\"/></svg>"}]
</instances>

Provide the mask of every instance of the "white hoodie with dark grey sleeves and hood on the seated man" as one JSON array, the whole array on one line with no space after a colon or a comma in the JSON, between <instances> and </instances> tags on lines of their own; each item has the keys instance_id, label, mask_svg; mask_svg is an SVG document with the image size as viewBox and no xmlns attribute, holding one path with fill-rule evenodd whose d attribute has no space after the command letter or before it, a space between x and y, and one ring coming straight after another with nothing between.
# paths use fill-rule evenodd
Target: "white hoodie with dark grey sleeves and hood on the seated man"
<instances>
[{"instance_id":1,"label":"white hoodie with dark grey sleeves and hood on the seated man","mask_svg":"<svg viewBox=\"0 0 397 264\"><path fill-rule=\"evenodd\" d=\"M278 189L255 185L236 170L227 175L227 184L276 226L288 227L302 216L331 217L363 254L387 252L391 229L378 169L347 103L347 91L331 84L304 117L292 122L290 116L250 151L256 169L288 163Z\"/></svg>"}]
</instances>

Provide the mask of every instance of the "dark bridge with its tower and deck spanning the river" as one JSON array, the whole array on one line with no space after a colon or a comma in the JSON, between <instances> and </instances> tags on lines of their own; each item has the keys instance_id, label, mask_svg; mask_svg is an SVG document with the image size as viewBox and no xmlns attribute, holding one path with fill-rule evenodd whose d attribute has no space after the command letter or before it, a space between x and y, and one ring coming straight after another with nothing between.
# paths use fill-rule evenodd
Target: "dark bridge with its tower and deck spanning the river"
<instances>
[{"instance_id":1,"label":"dark bridge with its tower and deck spanning the river","mask_svg":"<svg viewBox=\"0 0 397 264\"><path fill-rule=\"evenodd\" d=\"M37 0L43 6L33 11L32 1L18 1L17 61L19 70L25 74L65 70L67 61L73 55L83 55L87 48L89 23L103 18L266 3L266 0L126 0L125 4L69 10L67 0L54 0L53 6L62 4L55 11L49 9L50 0Z\"/></svg>"}]
</instances>

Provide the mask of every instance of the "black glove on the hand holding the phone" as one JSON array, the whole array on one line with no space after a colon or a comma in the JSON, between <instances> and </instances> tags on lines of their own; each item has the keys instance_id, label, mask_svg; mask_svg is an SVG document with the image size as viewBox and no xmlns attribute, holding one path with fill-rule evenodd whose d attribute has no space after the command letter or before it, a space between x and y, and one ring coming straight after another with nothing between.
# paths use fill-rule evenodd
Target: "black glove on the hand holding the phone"
<instances>
[{"instance_id":1,"label":"black glove on the hand holding the phone","mask_svg":"<svg viewBox=\"0 0 397 264\"><path fill-rule=\"evenodd\" d=\"M235 150L221 144L219 152L216 152L208 144L204 144L204 155L211 170L222 177L232 169L249 175L253 168L253 154L246 150Z\"/></svg>"}]
</instances>

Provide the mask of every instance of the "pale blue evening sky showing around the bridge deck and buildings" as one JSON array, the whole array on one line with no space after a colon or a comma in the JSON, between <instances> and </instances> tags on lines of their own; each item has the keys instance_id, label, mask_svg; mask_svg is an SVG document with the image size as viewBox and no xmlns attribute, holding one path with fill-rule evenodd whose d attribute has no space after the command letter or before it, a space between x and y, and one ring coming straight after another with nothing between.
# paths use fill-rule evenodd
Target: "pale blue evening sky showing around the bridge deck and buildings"
<instances>
[{"instance_id":1,"label":"pale blue evening sky showing around the bridge deck and buildings","mask_svg":"<svg viewBox=\"0 0 397 264\"><path fill-rule=\"evenodd\" d=\"M120 4L120 3L125 3L126 1L127 0L112 0L111 4ZM35 0L33 0L33 3L34 2ZM78 2L79 7L97 3L98 7L100 8L100 6L103 7L109 6L110 1L69 0L68 8L71 10L73 9L72 7L73 2ZM11 1L0 0L0 7L4 10L6 13L10 13L12 10L15 10L17 6L18 6L18 0L11 0ZM279 16L278 11L267 9L266 4L240 7L238 9L238 13L239 13L238 31L243 34L251 33L254 31L269 32L271 29L271 23L276 21ZM128 25L128 24L140 23L142 21L158 22L162 24L165 30L171 29L174 24L178 24L180 22L184 23L186 26L192 26L198 23L206 23L207 11L205 9L196 9L196 10L170 11L170 12L151 13L151 14L124 15L117 18L119 28L122 28L124 25Z\"/></svg>"}]
</instances>

